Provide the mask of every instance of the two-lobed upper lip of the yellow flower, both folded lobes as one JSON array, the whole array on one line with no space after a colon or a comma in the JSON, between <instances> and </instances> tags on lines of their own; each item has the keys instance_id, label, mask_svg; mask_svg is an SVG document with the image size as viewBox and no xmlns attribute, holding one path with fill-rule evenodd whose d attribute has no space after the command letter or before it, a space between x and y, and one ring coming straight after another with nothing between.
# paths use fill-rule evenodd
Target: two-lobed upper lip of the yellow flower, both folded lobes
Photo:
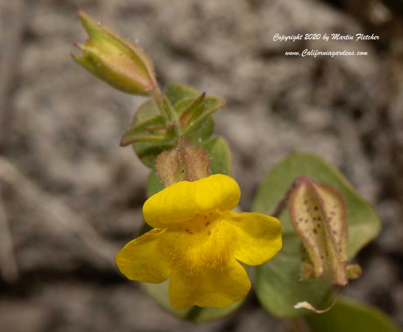
<instances>
[{"instance_id":1,"label":"two-lobed upper lip of the yellow flower, both folded lobes","mask_svg":"<svg viewBox=\"0 0 403 332\"><path fill-rule=\"evenodd\" d=\"M181 181L151 196L143 206L146 223L165 228L216 209L233 209L241 192L234 179L215 174L195 182Z\"/></svg>"}]
</instances>

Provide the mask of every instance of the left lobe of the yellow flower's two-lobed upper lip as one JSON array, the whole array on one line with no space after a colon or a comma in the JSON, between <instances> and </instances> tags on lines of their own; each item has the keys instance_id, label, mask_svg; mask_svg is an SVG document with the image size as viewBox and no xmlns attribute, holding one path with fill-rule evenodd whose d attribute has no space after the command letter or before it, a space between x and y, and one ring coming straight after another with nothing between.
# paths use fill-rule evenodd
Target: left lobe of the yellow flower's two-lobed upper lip
<instances>
[{"instance_id":1,"label":"left lobe of the yellow flower's two-lobed upper lip","mask_svg":"<svg viewBox=\"0 0 403 332\"><path fill-rule=\"evenodd\" d=\"M189 220L197 213L196 182L181 181L151 196L143 205L146 223L165 228Z\"/></svg>"}]
</instances>

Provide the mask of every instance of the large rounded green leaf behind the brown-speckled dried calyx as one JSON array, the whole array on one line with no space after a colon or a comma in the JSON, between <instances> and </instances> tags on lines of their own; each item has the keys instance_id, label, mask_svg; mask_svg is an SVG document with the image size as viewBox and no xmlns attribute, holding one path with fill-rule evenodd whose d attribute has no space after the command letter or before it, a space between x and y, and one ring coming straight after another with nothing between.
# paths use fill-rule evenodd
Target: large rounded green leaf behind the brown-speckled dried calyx
<instances>
[{"instance_id":1,"label":"large rounded green leaf behind the brown-speckled dried calyx","mask_svg":"<svg viewBox=\"0 0 403 332\"><path fill-rule=\"evenodd\" d=\"M380 232L380 220L372 206L354 190L343 175L315 155L293 153L277 164L261 184L252 210L273 213L294 179L300 175L308 175L342 193L349 216L349 258L353 258ZM300 281L300 239L291 224L288 209L285 209L279 219L283 226L283 248L271 261L256 268L257 297L268 311L280 317L305 314L304 310L294 309L294 305L302 301L308 301L317 309L322 309L332 285L327 277Z\"/></svg>"}]
</instances>

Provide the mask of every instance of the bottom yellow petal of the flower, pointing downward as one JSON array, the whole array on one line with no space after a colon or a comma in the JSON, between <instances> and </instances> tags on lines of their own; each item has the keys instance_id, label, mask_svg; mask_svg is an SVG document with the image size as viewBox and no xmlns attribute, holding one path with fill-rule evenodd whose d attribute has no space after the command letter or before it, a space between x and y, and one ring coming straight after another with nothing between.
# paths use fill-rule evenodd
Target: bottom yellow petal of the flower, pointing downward
<instances>
[{"instance_id":1,"label":"bottom yellow petal of the flower, pointing downward","mask_svg":"<svg viewBox=\"0 0 403 332\"><path fill-rule=\"evenodd\" d=\"M232 258L218 268L205 268L193 275L174 269L169 283L169 299L176 309L193 305L227 307L244 298L249 290L250 281L245 269Z\"/></svg>"}]
</instances>

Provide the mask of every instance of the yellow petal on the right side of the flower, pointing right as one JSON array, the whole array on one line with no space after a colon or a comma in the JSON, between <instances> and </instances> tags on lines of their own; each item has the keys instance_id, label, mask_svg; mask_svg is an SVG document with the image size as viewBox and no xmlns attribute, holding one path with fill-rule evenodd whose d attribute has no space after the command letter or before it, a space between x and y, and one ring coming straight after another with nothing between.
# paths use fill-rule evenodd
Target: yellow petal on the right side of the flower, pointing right
<instances>
[{"instance_id":1,"label":"yellow petal on the right side of the flower, pointing right","mask_svg":"<svg viewBox=\"0 0 403 332\"><path fill-rule=\"evenodd\" d=\"M229 212L229 227L234 229L234 256L248 265L260 265L281 249L281 223L277 218L252 212Z\"/></svg>"}]
</instances>

